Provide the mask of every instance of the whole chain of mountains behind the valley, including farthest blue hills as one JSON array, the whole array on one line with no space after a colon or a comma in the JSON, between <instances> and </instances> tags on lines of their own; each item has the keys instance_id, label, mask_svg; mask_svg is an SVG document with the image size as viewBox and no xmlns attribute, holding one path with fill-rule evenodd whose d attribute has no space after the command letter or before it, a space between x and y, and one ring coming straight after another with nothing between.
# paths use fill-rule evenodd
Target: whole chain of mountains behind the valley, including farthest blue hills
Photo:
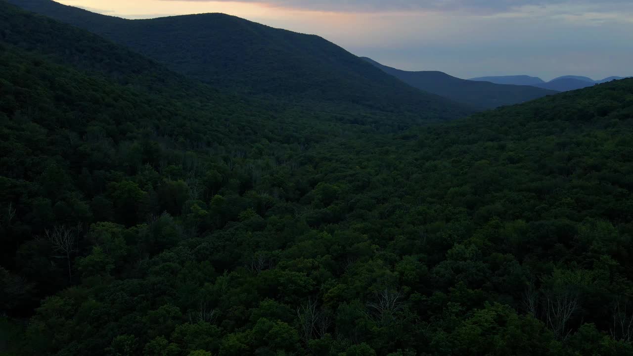
<instances>
[{"instance_id":1,"label":"whole chain of mountains behind the valley, including farthest blue hills","mask_svg":"<svg viewBox=\"0 0 633 356\"><path fill-rule=\"evenodd\" d=\"M106 37L217 89L314 112L336 111L341 120L359 124L449 120L594 84L586 77L546 83L525 75L465 80L406 72L358 58L316 35L219 13L126 20L51 0L9 3ZM357 115L358 110L371 113Z\"/></svg>"}]
</instances>

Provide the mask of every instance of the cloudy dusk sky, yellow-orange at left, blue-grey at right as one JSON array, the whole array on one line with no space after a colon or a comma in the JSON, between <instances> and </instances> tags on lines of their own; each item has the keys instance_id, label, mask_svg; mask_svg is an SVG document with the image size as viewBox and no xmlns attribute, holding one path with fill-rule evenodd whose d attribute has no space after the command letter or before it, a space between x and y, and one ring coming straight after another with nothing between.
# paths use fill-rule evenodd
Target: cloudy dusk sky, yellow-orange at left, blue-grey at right
<instances>
[{"instance_id":1,"label":"cloudy dusk sky, yellow-orange at left, blue-grey at right","mask_svg":"<svg viewBox=\"0 0 633 356\"><path fill-rule=\"evenodd\" d=\"M104 15L221 12L460 78L633 75L633 0L57 0Z\"/></svg>"}]
</instances>

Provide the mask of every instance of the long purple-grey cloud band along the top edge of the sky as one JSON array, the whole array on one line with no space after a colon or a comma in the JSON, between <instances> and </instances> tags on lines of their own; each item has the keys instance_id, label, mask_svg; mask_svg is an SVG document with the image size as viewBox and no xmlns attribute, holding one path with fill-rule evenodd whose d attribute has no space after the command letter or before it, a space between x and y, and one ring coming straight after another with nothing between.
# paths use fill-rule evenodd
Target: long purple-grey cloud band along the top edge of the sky
<instances>
[{"instance_id":1,"label":"long purple-grey cloud band along the top edge of the sky","mask_svg":"<svg viewBox=\"0 0 633 356\"><path fill-rule=\"evenodd\" d=\"M568 5L585 6L594 12L631 9L630 0L162 0L197 2L258 3L280 8L335 12L465 12L470 15L492 15L522 8Z\"/></svg>"}]
</instances>

